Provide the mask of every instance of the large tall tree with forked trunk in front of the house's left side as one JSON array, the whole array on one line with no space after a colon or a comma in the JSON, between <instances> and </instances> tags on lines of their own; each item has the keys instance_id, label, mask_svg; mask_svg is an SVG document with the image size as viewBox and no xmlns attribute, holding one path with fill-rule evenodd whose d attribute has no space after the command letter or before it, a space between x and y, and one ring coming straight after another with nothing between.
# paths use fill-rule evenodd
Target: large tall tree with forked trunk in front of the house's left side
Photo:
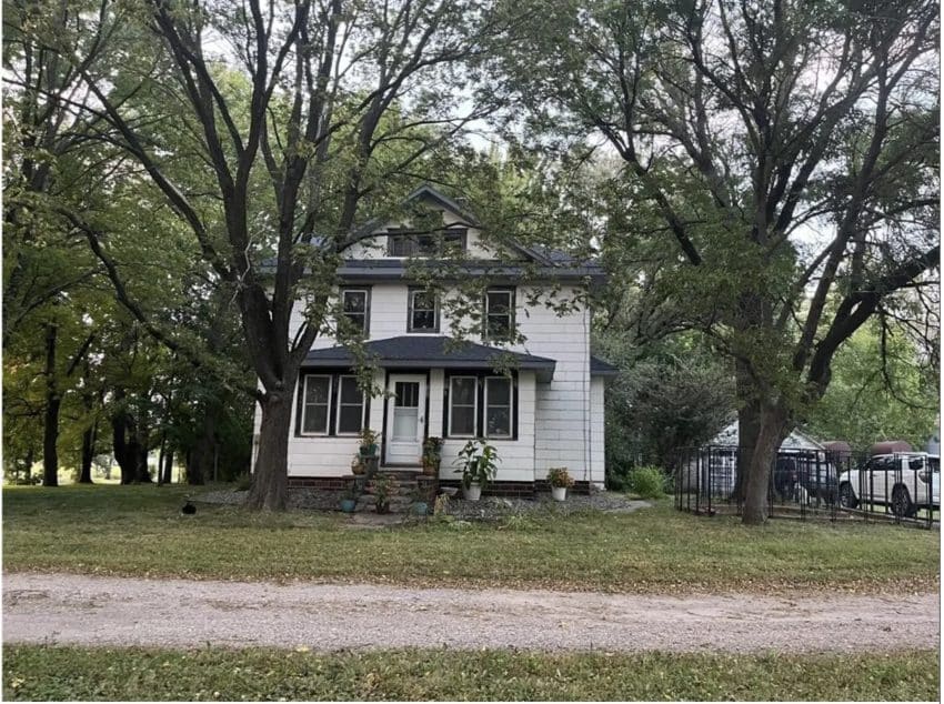
<instances>
[{"instance_id":1,"label":"large tall tree with forked trunk in front of the house's left side","mask_svg":"<svg viewBox=\"0 0 944 704\"><path fill-rule=\"evenodd\" d=\"M108 125L90 139L117 145L142 170L214 280L233 291L260 383L252 507L285 505L292 390L327 322L340 254L364 235L360 224L406 192L425 154L482 114L469 107L475 101L463 93L462 67L481 51L479 37L500 29L488 10L474 0L106 2L82 31L96 41L118 31L134 39L109 63L42 33L44 48L81 76L93 114ZM385 119L394 112L402 119ZM169 125L173 140L162 139ZM188 174L180 174L181 158ZM129 310L188 353L130 295L109 229L81 217L71 222ZM290 336L297 306L304 322Z\"/></svg>"}]
</instances>

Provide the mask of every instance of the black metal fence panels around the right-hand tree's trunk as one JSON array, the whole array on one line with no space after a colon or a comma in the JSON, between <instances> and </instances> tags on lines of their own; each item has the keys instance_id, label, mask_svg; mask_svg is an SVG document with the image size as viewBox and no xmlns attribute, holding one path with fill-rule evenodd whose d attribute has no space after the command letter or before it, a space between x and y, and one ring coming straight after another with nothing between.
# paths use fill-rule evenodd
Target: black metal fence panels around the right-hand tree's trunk
<instances>
[{"instance_id":1,"label":"black metal fence panels around the right-hand tree's trunk","mask_svg":"<svg viewBox=\"0 0 944 704\"><path fill-rule=\"evenodd\" d=\"M675 507L713 515L741 513L739 469L752 450L710 445L681 453ZM872 457L822 450L782 449L773 460L767 514L777 517L864 520L940 525L940 459L925 453Z\"/></svg>"}]
</instances>

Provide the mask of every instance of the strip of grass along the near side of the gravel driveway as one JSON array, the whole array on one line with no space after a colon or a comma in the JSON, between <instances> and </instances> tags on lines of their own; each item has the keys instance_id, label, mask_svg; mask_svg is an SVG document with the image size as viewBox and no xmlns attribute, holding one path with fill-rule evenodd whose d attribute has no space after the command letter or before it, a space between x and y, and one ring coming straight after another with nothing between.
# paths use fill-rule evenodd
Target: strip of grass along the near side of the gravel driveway
<instances>
[{"instance_id":1,"label":"strip of grass along the near side of the gravel driveway","mask_svg":"<svg viewBox=\"0 0 944 704\"><path fill-rule=\"evenodd\" d=\"M937 653L727 655L7 646L3 697L940 701Z\"/></svg>"}]
</instances>

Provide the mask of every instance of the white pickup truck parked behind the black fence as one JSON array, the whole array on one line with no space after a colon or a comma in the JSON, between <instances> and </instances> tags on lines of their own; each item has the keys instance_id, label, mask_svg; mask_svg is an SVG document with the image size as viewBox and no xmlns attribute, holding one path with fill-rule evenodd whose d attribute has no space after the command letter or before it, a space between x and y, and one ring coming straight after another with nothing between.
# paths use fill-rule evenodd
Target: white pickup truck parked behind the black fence
<instances>
[{"instance_id":1,"label":"white pickup truck parked behind the black fence","mask_svg":"<svg viewBox=\"0 0 944 704\"><path fill-rule=\"evenodd\" d=\"M887 506L896 516L941 507L941 457L923 452L877 454L838 477L840 504Z\"/></svg>"}]
</instances>

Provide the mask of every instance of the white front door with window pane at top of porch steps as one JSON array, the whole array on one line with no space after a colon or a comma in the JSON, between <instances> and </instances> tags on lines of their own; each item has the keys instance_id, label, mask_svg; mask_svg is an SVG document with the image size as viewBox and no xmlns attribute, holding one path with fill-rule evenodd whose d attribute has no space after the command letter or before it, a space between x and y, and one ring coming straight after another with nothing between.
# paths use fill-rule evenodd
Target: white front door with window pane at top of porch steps
<instances>
[{"instance_id":1,"label":"white front door with window pane at top of porch steps","mask_svg":"<svg viewBox=\"0 0 944 704\"><path fill-rule=\"evenodd\" d=\"M384 464L419 465L426 420L426 378L391 374L388 391Z\"/></svg>"}]
</instances>

